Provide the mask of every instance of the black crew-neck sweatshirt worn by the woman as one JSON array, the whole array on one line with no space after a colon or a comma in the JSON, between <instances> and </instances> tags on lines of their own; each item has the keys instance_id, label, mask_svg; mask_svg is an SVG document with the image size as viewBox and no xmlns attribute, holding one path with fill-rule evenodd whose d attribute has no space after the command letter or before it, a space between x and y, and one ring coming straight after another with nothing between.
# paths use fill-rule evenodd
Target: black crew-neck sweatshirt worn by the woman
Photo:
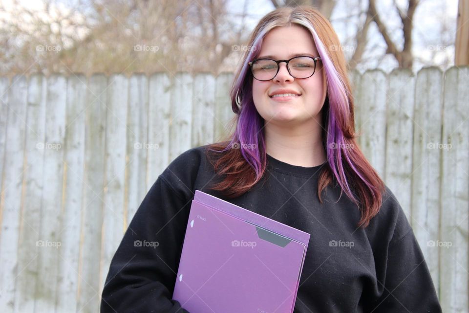
<instances>
[{"instance_id":1,"label":"black crew-neck sweatshirt worn by the woman","mask_svg":"<svg viewBox=\"0 0 469 313\"><path fill-rule=\"evenodd\" d=\"M188 312L172 292L196 189L311 234L295 313L441 312L421 249L387 187L378 215L357 228L359 209L339 187L327 187L320 204L327 163L306 168L268 155L263 178L225 199L208 189L219 180L204 148L178 156L150 188L111 261L102 313Z\"/></svg>"}]
</instances>

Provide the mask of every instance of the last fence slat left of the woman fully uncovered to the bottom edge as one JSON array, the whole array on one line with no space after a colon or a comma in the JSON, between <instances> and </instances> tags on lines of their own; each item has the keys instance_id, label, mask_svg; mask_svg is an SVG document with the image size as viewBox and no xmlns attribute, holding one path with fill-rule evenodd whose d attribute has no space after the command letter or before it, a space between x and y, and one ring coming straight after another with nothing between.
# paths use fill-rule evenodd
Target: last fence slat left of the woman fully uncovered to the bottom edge
<instances>
[{"instance_id":1,"label":"last fence slat left of the woman fully uncovered to the bottom edge","mask_svg":"<svg viewBox=\"0 0 469 313\"><path fill-rule=\"evenodd\" d=\"M81 212L77 312L94 313L100 300L101 227L106 153L107 77L88 80L85 109L85 172ZM73 311L73 309L71 310Z\"/></svg>"}]
</instances>

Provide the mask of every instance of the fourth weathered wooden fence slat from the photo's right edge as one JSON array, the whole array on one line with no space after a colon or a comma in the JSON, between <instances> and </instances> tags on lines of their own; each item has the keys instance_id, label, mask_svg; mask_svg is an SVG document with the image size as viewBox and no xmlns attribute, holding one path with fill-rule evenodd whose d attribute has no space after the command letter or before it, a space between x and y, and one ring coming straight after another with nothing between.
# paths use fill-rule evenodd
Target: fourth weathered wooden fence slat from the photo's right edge
<instances>
[{"instance_id":1,"label":"fourth weathered wooden fence slat from the photo's right edge","mask_svg":"<svg viewBox=\"0 0 469 313\"><path fill-rule=\"evenodd\" d=\"M387 83L382 70L366 71L362 76L360 147L378 174L385 179L385 138Z\"/></svg>"}]
</instances>

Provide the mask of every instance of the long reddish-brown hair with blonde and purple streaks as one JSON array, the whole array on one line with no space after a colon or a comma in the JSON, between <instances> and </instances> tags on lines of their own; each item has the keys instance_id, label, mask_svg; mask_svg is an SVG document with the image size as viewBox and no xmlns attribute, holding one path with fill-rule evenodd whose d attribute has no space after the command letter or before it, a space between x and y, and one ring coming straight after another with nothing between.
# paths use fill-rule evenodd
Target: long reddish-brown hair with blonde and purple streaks
<instances>
[{"instance_id":1,"label":"long reddish-brown hair with blonde and purple streaks","mask_svg":"<svg viewBox=\"0 0 469 313\"><path fill-rule=\"evenodd\" d=\"M323 202L321 193L329 184L339 184L341 195L345 193L361 211L358 225L366 227L380 210L384 182L355 141L354 100L339 38L330 22L309 6L276 9L264 16L254 29L230 91L236 113L235 131L226 141L209 145L206 150L216 172L223 176L211 189L227 198L238 197L265 172L264 121L254 105L253 77L248 62L256 58L270 30L292 23L311 33L325 71L327 89L321 138L328 161L319 176L320 202Z\"/></svg>"}]
</instances>

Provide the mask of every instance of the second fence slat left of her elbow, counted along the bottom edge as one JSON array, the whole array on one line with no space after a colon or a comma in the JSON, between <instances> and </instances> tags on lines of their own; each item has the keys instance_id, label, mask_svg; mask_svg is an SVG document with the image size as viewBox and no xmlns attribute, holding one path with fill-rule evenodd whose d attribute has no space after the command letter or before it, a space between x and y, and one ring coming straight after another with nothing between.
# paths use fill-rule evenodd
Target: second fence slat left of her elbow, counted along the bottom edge
<instances>
[{"instance_id":1,"label":"second fence slat left of her elbow, counted along the bottom edge","mask_svg":"<svg viewBox=\"0 0 469 313\"><path fill-rule=\"evenodd\" d=\"M80 226L83 208L83 172L85 158L86 77L72 75L66 89L66 129L64 152L64 205L58 236L59 277L56 312L77 307Z\"/></svg>"}]
</instances>

